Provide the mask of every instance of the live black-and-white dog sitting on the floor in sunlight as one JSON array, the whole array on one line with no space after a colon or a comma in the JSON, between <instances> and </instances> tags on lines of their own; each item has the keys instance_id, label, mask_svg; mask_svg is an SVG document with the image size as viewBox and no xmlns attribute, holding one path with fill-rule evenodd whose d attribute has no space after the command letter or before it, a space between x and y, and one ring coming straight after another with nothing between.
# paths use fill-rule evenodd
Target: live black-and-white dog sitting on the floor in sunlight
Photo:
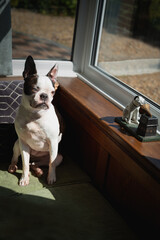
<instances>
[{"instance_id":1,"label":"live black-and-white dog sitting on the floor in sunlight","mask_svg":"<svg viewBox=\"0 0 160 240\"><path fill-rule=\"evenodd\" d=\"M39 176L43 173L39 166L48 163L48 184L56 181L56 167L63 158L58 154L62 133L52 104L58 87L57 73L58 66L55 65L46 76L38 76L32 56L28 56L25 61L22 100L15 118L18 139L14 144L13 157L8 168L10 173L14 173L17 170L18 157L21 155L20 186L29 184L31 159L43 159L31 163L31 168Z\"/></svg>"}]
</instances>

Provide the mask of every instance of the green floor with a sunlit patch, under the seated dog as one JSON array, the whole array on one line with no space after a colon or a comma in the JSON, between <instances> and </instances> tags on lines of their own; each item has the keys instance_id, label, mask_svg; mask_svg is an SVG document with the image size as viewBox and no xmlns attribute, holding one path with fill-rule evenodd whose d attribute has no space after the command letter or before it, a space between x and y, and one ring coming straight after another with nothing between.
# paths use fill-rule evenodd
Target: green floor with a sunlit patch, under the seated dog
<instances>
[{"instance_id":1,"label":"green floor with a sunlit patch, under the seated dog","mask_svg":"<svg viewBox=\"0 0 160 240\"><path fill-rule=\"evenodd\" d=\"M57 182L31 175L18 186L21 170L7 172L0 163L0 240L138 239L89 177L69 158L57 168Z\"/></svg>"}]
</instances>

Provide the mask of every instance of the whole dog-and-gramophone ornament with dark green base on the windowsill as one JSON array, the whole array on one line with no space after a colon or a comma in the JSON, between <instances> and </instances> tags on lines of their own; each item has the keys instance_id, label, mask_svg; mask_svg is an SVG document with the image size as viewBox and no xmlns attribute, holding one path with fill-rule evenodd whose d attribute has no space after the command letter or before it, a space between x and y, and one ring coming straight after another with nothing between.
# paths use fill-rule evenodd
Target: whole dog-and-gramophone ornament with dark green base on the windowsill
<instances>
[{"instance_id":1,"label":"whole dog-and-gramophone ornament with dark green base on the windowsill","mask_svg":"<svg viewBox=\"0 0 160 240\"><path fill-rule=\"evenodd\" d=\"M150 105L141 96L136 96L125 107L123 116L116 117L115 121L126 133L132 134L141 142L160 141L157 133L158 119L152 116Z\"/></svg>"}]
</instances>

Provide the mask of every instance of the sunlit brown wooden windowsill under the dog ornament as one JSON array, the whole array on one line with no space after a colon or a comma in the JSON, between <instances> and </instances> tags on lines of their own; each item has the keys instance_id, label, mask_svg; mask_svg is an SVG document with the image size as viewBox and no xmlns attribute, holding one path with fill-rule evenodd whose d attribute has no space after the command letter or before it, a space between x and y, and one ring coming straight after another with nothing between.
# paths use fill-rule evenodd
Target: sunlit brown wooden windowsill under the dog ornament
<instances>
[{"instance_id":1,"label":"sunlit brown wooden windowsill under the dog ornament","mask_svg":"<svg viewBox=\"0 0 160 240\"><path fill-rule=\"evenodd\" d=\"M58 80L59 93L71 98L104 134L160 182L160 141L140 142L124 132L114 121L122 116L122 111L80 79L59 77Z\"/></svg>"}]
</instances>

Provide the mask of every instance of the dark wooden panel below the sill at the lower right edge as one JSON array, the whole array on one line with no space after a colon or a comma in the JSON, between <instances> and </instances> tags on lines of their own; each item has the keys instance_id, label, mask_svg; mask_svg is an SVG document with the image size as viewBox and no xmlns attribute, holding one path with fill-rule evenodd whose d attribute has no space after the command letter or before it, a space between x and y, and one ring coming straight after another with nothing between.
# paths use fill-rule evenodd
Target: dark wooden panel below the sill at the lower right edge
<instances>
[{"instance_id":1,"label":"dark wooden panel below the sill at the lower right edge","mask_svg":"<svg viewBox=\"0 0 160 240\"><path fill-rule=\"evenodd\" d=\"M128 158L128 166L131 159ZM106 192L122 211L137 217L137 221L159 226L159 186L138 166L124 167L111 157L106 180ZM153 227L153 226L152 226Z\"/></svg>"}]
</instances>

